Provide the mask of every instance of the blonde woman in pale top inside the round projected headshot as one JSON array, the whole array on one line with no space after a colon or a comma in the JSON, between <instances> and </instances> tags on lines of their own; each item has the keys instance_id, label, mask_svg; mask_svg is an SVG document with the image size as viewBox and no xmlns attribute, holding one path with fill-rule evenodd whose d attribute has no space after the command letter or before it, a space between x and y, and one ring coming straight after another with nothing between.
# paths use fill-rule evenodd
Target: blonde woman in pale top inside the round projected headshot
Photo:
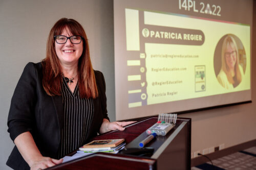
<instances>
[{"instance_id":1,"label":"blonde woman in pale top inside the round projected headshot","mask_svg":"<svg viewBox=\"0 0 256 170\"><path fill-rule=\"evenodd\" d=\"M226 36L222 44L222 67L217 79L226 89L237 87L243 79L243 68L239 65L238 47L234 38Z\"/></svg>"}]
</instances>

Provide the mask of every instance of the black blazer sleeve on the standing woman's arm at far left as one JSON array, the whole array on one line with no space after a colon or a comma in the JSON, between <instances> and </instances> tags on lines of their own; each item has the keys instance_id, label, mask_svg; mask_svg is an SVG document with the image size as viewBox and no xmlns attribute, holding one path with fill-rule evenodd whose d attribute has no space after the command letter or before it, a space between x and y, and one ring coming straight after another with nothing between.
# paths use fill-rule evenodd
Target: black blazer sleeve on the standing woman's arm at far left
<instances>
[{"instance_id":1,"label":"black blazer sleeve on the standing woman's arm at far left","mask_svg":"<svg viewBox=\"0 0 256 170\"><path fill-rule=\"evenodd\" d=\"M14 140L19 134L32 131L36 97L36 73L33 63L28 63L20 77L11 100L8 115L8 132Z\"/></svg>"}]
</instances>

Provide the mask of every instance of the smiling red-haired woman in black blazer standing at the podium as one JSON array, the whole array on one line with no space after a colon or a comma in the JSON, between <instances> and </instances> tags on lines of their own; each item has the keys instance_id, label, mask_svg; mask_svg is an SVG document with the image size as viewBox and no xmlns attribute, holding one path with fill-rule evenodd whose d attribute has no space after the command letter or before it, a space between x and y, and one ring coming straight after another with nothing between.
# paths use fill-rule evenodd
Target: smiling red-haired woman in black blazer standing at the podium
<instances>
[{"instance_id":1,"label":"smiling red-haired woman in black blazer standing at the podium","mask_svg":"<svg viewBox=\"0 0 256 170\"><path fill-rule=\"evenodd\" d=\"M61 18L50 31L47 55L28 63L15 88L8 132L15 143L7 165L44 169L98 133L124 130L109 122L104 77L92 68L80 23Z\"/></svg>"}]
</instances>

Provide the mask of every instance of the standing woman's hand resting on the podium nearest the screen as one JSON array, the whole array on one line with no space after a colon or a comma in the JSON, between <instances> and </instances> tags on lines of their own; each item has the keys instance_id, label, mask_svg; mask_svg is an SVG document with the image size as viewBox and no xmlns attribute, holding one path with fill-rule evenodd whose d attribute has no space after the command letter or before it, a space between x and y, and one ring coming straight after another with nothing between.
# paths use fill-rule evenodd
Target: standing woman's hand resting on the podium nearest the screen
<instances>
[{"instance_id":1,"label":"standing woman's hand resting on the podium nearest the screen","mask_svg":"<svg viewBox=\"0 0 256 170\"><path fill-rule=\"evenodd\" d=\"M124 126L135 123L135 121L130 121L130 122L109 122L108 119L103 119L103 122L101 124L100 133L105 133L109 132L112 130L120 130L123 131L125 128Z\"/></svg>"}]
</instances>

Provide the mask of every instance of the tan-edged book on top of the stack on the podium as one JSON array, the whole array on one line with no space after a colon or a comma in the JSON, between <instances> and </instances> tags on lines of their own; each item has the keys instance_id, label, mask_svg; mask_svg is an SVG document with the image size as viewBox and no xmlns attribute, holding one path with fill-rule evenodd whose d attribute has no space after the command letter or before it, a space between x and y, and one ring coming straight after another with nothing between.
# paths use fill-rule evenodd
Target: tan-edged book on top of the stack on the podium
<instances>
[{"instance_id":1,"label":"tan-edged book on top of the stack on the podium","mask_svg":"<svg viewBox=\"0 0 256 170\"><path fill-rule=\"evenodd\" d=\"M123 143L124 139L94 140L84 144L80 149L110 150Z\"/></svg>"}]
</instances>

